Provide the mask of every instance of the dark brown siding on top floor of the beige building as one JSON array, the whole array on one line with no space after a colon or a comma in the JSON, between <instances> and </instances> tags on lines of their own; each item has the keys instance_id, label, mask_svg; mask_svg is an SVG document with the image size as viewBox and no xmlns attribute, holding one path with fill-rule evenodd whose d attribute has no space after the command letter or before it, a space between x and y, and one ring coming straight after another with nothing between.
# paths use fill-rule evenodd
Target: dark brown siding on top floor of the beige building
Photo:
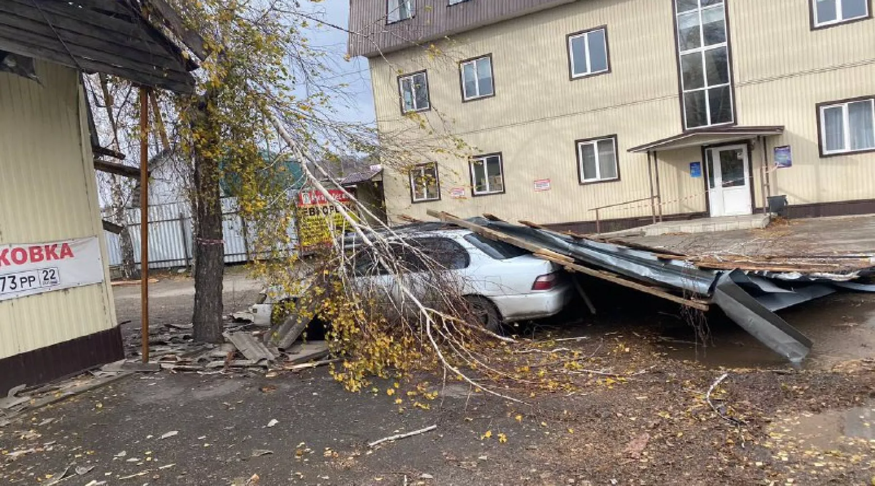
<instances>
[{"instance_id":1,"label":"dark brown siding on top floor of the beige building","mask_svg":"<svg viewBox=\"0 0 875 486\"><path fill-rule=\"evenodd\" d=\"M387 0L350 0L349 53L373 57L573 1L416 0L415 17L386 24Z\"/></svg>"}]
</instances>

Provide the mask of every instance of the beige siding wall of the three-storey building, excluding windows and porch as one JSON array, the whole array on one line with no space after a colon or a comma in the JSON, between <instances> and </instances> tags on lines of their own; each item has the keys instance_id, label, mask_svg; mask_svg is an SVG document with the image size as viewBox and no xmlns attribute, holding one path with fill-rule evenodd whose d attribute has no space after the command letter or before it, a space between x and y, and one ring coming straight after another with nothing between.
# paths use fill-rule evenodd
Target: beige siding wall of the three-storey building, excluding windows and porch
<instances>
[{"instance_id":1,"label":"beige siding wall of the three-storey building, excluding windows and porch","mask_svg":"<svg viewBox=\"0 0 875 486\"><path fill-rule=\"evenodd\" d=\"M594 207L648 197L647 156L627 149L683 131L671 1L582 0L459 34L437 43L438 55L423 46L372 58L384 136L404 133L433 143L449 132L469 144L469 154L504 156L505 194L471 198L467 163L456 151L443 156L442 200L421 204L410 203L408 178L385 163L389 218L422 218L436 209L550 224L592 220ZM729 0L727 10L737 123L784 125L785 135L767 139L767 155L777 145L793 149L794 166L770 172L771 193L787 194L791 205L875 198L875 154L821 158L816 113L822 101L875 94L875 21L811 31L806 0ZM566 36L600 25L607 25L611 72L569 80ZM496 95L463 103L458 60L486 53L493 55ZM422 114L426 130L401 116L396 79L422 69L432 106ZM574 141L613 134L620 182L577 184ZM759 144L753 149L753 203L761 205L763 155ZM659 159L663 212L706 211L704 180L690 177L701 149L663 152ZM551 179L551 191L534 191L542 178ZM464 187L468 197L451 198L453 187ZM601 217L649 214L649 204L641 203Z\"/></svg>"}]
</instances>

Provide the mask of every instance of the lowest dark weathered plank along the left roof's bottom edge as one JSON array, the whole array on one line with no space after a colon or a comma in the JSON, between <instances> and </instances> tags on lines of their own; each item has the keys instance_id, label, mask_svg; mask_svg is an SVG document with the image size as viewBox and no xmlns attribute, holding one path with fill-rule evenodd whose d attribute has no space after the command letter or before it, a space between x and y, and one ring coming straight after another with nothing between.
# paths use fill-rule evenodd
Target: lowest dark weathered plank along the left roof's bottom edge
<instances>
[{"instance_id":1,"label":"lowest dark weathered plank along the left roof's bottom edge","mask_svg":"<svg viewBox=\"0 0 875 486\"><path fill-rule=\"evenodd\" d=\"M191 78L190 80L186 80L186 82L181 82L178 80L171 80L160 77L157 73L143 73L120 66L112 66L102 62L95 62L90 59L76 59L76 62L73 62L73 59L71 59L70 55L66 52L59 52L52 49L47 49L40 45L30 45L27 43L23 43L16 40L14 37L6 37L3 32L0 32L0 50L21 54L23 56L29 56L31 58L52 61L63 66L72 67L73 69L81 67L87 72L112 74L114 76L118 76L120 78L124 78L138 84L143 84L151 87L162 87L165 89L170 89L177 93L193 93L194 91L193 78Z\"/></svg>"}]
</instances>

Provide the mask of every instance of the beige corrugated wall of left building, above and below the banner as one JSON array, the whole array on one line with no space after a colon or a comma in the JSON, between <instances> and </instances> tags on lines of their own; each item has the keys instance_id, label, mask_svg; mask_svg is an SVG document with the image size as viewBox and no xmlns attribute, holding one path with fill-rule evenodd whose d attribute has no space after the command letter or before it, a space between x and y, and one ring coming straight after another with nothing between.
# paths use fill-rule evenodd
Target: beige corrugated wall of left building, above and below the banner
<instances>
[{"instance_id":1,"label":"beige corrugated wall of left building, above and below the banner","mask_svg":"<svg viewBox=\"0 0 875 486\"><path fill-rule=\"evenodd\" d=\"M45 62L37 74L0 73L0 243L103 233L77 74ZM115 325L107 285L0 302L0 358Z\"/></svg>"}]
</instances>

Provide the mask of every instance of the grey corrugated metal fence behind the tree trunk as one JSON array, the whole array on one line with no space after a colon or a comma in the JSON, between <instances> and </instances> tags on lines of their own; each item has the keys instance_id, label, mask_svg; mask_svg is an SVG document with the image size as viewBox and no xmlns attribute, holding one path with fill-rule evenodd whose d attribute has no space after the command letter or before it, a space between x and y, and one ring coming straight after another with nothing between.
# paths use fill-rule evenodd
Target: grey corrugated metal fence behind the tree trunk
<instances>
[{"instance_id":1,"label":"grey corrugated metal fence behind the tree trunk","mask_svg":"<svg viewBox=\"0 0 875 486\"><path fill-rule=\"evenodd\" d=\"M237 212L235 198L224 198L222 206L222 234L225 240L225 263L240 263L251 258L249 244L243 232L243 220ZM106 215L104 215L106 217ZM125 210L134 260L140 264L140 210ZM109 251L109 265L122 264L122 246L119 235L104 232ZM290 249L297 247L295 226L288 229ZM149 206L149 267L189 267L192 264L192 210L187 203Z\"/></svg>"}]
</instances>

